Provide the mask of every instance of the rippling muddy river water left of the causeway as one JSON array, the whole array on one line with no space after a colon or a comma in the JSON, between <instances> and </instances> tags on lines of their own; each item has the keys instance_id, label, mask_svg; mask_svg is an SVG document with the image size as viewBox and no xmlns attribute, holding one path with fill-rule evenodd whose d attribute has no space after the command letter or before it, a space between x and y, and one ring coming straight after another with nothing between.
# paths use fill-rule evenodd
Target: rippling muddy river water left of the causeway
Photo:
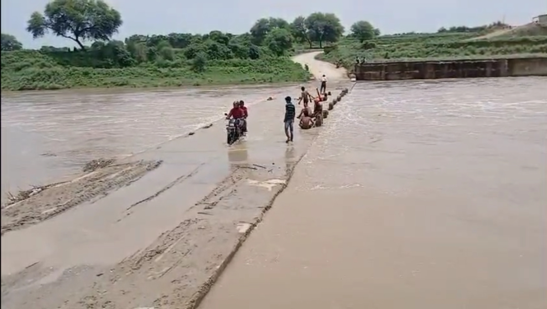
<instances>
[{"instance_id":1,"label":"rippling muddy river water left of the causeway","mask_svg":"<svg viewBox=\"0 0 547 309\"><path fill-rule=\"evenodd\" d=\"M118 158L296 87L219 90L48 91L2 95L2 193L54 182L98 158ZM298 92L296 92L298 93ZM224 137L219 136L219 142ZM2 194L2 200L4 199Z\"/></svg>"}]
</instances>

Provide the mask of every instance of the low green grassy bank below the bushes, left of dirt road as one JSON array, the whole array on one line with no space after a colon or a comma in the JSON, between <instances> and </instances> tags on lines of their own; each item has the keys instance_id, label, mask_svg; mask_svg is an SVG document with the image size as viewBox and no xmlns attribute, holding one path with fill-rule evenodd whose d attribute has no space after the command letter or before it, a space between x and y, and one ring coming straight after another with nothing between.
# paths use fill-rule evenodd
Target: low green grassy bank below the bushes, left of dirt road
<instances>
[{"instance_id":1,"label":"low green grassy bank below the bushes, left of dirt road","mask_svg":"<svg viewBox=\"0 0 547 309\"><path fill-rule=\"evenodd\" d=\"M69 55L69 54L73 55ZM2 90L66 88L163 87L305 81L309 74L287 57L208 61L201 71L188 60L144 62L101 68L75 66L85 52L2 52ZM64 63L63 63L64 61Z\"/></svg>"}]
</instances>

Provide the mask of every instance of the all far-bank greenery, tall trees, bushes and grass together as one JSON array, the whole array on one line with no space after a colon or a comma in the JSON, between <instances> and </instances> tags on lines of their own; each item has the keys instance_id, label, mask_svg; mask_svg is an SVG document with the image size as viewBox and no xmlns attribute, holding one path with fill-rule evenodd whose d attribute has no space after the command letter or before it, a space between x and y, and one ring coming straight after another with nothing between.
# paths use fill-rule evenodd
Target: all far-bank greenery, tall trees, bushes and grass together
<instances>
[{"instance_id":1,"label":"all far-bank greenery, tall trees, bushes and grass together","mask_svg":"<svg viewBox=\"0 0 547 309\"><path fill-rule=\"evenodd\" d=\"M91 9L92 8L92 9ZM55 12L71 14L58 18ZM370 22L346 32L332 13L315 12L292 22L261 18L247 33L135 34L112 39L121 14L100 0L53 0L34 12L26 30L34 38L54 34L77 48L25 50L2 33L2 90L170 87L301 82L310 74L289 56L315 47L320 59L352 68L369 61L454 59L547 53L547 28L503 22L440 28L437 33L380 36ZM76 25L76 26L74 26ZM90 44L90 45L85 45Z\"/></svg>"}]
</instances>

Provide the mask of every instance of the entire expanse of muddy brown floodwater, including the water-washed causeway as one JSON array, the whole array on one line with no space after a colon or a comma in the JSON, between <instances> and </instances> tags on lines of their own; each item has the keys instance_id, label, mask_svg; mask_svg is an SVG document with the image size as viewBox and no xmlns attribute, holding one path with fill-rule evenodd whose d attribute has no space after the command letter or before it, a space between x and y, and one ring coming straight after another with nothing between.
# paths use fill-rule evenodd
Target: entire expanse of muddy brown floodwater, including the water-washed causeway
<instances>
[{"instance_id":1,"label":"entire expanse of muddy brown floodwater, including the water-washed causeway","mask_svg":"<svg viewBox=\"0 0 547 309\"><path fill-rule=\"evenodd\" d=\"M80 178L2 209L2 307L193 307L272 207L200 307L543 308L545 84L357 84L289 145L295 86L3 96L2 188Z\"/></svg>"}]
</instances>

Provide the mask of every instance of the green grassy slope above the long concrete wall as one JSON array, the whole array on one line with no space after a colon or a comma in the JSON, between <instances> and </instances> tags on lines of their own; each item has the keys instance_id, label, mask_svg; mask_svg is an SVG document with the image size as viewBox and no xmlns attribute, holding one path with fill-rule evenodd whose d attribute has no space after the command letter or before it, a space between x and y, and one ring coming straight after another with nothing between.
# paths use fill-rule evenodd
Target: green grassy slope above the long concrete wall
<instances>
[{"instance_id":1,"label":"green grassy slope above the long concrete wall","mask_svg":"<svg viewBox=\"0 0 547 309\"><path fill-rule=\"evenodd\" d=\"M357 57L368 61L408 61L547 55L547 36L473 39L477 36L478 33L403 34L363 43L345 37L319 59L352 68Z\"/></svg>"}]
</instances>

